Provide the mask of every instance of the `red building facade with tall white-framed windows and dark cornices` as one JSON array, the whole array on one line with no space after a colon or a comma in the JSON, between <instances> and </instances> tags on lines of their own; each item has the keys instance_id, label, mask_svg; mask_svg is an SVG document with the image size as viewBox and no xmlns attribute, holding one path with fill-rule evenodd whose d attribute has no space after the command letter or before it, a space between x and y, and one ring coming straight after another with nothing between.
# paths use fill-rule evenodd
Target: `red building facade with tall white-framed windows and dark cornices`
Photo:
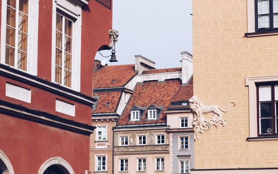
<instances>
[{"instance_id":1,"label":"red building facade with tall white-framed windows and dark cornices","mask_svg":"<svg viewBox=\"0 0 278 174\"><path fill-rule=\"evenodd\" d=\"M0 4L0 174L89 173L89 84L110 41L112 2Z\"/></svg>"}]
</instances>

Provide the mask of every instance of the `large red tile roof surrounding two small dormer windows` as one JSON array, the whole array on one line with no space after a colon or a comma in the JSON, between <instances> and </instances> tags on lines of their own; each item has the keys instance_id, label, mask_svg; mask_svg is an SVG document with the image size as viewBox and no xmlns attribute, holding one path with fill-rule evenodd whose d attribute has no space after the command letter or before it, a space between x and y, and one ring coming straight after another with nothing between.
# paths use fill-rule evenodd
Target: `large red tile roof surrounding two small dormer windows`
<instances>
[{"instance_id":1,"label":"large red tile roof surrounding two small dormer windows","mask_svg":"<svg viewBox=\"0 0 278 174\"><path fill-rule=\"evenodd\" d=\"M142 84L137 84L117 125L166 123L166 113L164 111L169 107L173 96L179 90L180 86L181 81L178 79L166 80L165 82L147 81ZM158 120L146 120L147 111L145 110L141 121L129 121L131 107L135 105L148 107L151 104L160 107L163 106Z\"/></svg>"}]
</instances>

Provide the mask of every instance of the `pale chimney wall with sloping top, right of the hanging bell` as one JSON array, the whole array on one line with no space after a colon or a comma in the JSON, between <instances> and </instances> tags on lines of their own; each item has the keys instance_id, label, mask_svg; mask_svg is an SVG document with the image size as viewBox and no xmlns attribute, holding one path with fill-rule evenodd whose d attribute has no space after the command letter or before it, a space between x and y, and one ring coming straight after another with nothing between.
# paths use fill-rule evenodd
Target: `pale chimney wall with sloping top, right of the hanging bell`
<instances>
[{"instance_id":1,"label":"pale chimney wall with sloping top, right of the hanging bell","mask_svg":"<svg viewBox=\"0 0 278 174\"><path fill-rule=\"evenodd\" d=\"M142 74L143 71L155 69L155 62L140 56L135 55L135 71Z\"/></svg>"}]
</instances>

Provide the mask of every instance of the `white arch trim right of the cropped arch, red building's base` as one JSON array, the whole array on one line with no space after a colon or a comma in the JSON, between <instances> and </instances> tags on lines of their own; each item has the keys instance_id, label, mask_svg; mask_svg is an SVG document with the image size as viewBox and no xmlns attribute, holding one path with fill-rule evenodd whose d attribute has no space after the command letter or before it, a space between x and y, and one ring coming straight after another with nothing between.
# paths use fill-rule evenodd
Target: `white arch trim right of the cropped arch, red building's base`
<instances>
[{"instance_id":1,"label":"white arch trim right of the cropped arch, red building's base","mask_svg":"<svg viewBox=\"0 0 278 174\"><path fill-rule=\"evenodd\" d=\"M71 165L61 157L53 157L46 160L40 167L38 174L43 174L44 171L52 165L63 166L70 174L75 174Z\"/></svg>"}]
</instances>

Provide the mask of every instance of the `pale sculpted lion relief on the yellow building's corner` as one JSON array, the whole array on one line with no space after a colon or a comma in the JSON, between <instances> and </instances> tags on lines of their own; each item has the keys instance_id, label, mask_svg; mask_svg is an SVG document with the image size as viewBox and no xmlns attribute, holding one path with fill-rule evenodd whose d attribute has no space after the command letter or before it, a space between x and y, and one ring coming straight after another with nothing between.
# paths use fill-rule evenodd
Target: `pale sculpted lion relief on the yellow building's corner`
<instances>
[{"instance_id":1,"label":"pale sculpted lion relief on the yellow building's corner","mask_svg":"<svg viewBox=\"0 0 278 174\"><path fill-rule=\"evenodd\" d=\"M218 129L219 126L225 127L227 125L228 120L222 119L222 112L228 112L230 110L230 103L233 103L234 106L236 103L234 101L229 102L229 109L224 110L217 105L205 106L196 95L193 95L189 99L190 110L193 114L193 133L194 133L194 141L198 140L198 134L203 133L203 131L210 130L213 126ZM222 111L222 112L221 112ZM209 120L206 120L203 115L212 113L214 117Z\"/></svg>"}]
</instances>

